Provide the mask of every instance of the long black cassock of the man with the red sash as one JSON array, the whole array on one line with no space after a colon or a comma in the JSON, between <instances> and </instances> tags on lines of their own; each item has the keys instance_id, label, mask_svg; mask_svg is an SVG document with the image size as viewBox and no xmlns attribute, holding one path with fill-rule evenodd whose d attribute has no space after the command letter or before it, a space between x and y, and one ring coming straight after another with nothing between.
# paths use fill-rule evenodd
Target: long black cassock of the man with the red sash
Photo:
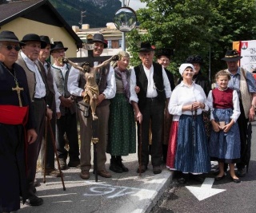
<instances>
[{"instance_id":1,"label":"long black cassock of the man with the red sash","mask_svg":"<svg viewBox=\"0 0 256 213\"><path fill-rule=\"evenodd\" d=\"M22 106L30 107L26 73L17 64L14 64L14 70L18 86L24 89L21 91ZM0 105L19 105L17 92L12 91L15 86L14 76L0 62ZM33 127L34 120L29 110L25 128ZM0 212L17 211L20 208L20 195L23 202L26 200L25 144L22 124L2 124L0 120Z\"/></svg>"}]
</instances>

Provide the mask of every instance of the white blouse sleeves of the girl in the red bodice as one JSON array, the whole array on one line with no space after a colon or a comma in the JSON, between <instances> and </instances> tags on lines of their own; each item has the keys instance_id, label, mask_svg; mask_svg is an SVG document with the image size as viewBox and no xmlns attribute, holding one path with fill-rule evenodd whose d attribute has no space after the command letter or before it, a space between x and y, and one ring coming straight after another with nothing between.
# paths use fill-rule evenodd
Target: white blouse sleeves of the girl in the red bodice
<instances>
[{"instance_id":1,"label":"white blouse sleeves of the girl in the red bodice","mask_svg":"<svg viewBox=\"0 0 256 213\"><path fill-rule=\"evenodd\" d=\"M210 93L207 97L208 105L210 107L210 120L214 120L214 101L213 101L213 91L210 90ZM238 98L238 92L236 90L233 91L233 114L230 116L230 119L233 119L234 122L238 120L238 117L240 116L240 106L239 106L239 98Z\"/></svg>"}]
</instances>

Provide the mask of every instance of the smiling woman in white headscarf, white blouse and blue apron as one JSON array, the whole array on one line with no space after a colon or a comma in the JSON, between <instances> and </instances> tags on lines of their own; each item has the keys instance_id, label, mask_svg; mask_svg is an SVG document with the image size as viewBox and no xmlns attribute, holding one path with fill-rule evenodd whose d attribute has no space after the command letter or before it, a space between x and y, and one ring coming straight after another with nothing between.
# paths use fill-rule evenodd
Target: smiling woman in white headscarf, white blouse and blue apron
<instances>
[{"instance_id":1,"label":"smiling woman in white headscarf, white blouse and blue apron","mask_svg":"<svg viewBox=\"0 0 256 213\"><path fill-rule=\"evenodd\" d=\"M194 66L182 64L179 68L182 82L170 97L168 110L174 115L166 167L181 172L179 183L188 178L203 182L202 173L210 171L210 155L202 111L207 111L206 94L193 81Z\"/></svg>"}]
</instances>

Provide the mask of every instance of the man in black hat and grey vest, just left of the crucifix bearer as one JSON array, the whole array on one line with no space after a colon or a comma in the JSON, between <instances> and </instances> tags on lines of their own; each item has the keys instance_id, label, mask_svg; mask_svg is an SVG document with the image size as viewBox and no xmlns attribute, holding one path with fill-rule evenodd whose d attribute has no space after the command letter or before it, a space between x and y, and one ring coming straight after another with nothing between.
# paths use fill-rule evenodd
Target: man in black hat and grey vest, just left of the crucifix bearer
<instances>
[{"instance_id":1,"label":"man in black hat and grey vest, just left of the crucifix bearer","mask_svg":"<svg viewBox=\"0 0 256 213\"><path fill-rule=\"evenodd\" d=\"M57 120L58 131L56 141L61 169L67 168L67 156L70 156L68 163L70 168L80 168L76 105L73 97L67 90L71 65L62 61L62 57L65 57L67 49L67 47L64 47L62 41L54 41L54 45L50 49L51 56L54 57L54 63L51 69L58 88L59 100L61 101L60 112L62 116ZM65 148L65 134L70 147L69 151Z\"/></svg>"}]
</instances>

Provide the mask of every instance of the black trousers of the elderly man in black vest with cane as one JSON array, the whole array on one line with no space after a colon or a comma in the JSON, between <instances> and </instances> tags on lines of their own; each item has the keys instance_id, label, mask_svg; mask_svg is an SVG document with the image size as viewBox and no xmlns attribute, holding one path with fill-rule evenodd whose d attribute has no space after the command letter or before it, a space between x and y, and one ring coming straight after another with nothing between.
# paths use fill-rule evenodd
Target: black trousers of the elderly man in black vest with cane
<instances>
[{"instance_id":1,"label":"black trousers of the elderly man in black vest with cane","mask_svg":"<svg viewBox=\"0 0 256 213\"><path fill-rule=\"evenodd\" d=\"M165 103L158 101L156 98L147 98L142 112L142 132L141 125L138 124L138 162L142 157L142 165L149 164L149 155L151 154L151 164L160 166L162 163L162 131L164 119ZM151 120L152 145L149 153L149 128ZM142 136L140 134L142 133ZM140 138L142 137L142 141ZM141 144L142 143L142 144ZM140 147L142 147L140 153Z\"/></svg>"}]
</instances>

